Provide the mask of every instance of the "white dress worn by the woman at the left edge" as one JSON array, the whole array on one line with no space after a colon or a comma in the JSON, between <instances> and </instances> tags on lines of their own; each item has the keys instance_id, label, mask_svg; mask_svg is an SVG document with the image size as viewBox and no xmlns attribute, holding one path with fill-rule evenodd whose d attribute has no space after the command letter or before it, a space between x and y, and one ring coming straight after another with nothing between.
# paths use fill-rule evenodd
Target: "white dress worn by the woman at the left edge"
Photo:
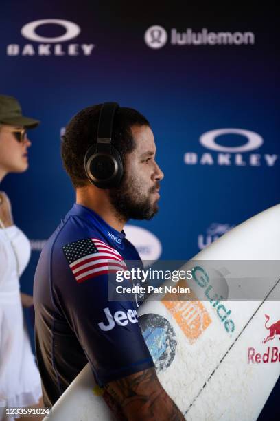
<instances>
[{"instance_id":1,"label":"white dress worn by the woman at the left edge","mask_svg":"<svg viewBox=\"0 0 280 421\"><path fill-rule=\"evenodd\" d=\"M1 407L36 404L40 375L24 327L19 276L30 259L30 242L15 225L0 228L0 419Z\"/></svg>"}]
</instances>

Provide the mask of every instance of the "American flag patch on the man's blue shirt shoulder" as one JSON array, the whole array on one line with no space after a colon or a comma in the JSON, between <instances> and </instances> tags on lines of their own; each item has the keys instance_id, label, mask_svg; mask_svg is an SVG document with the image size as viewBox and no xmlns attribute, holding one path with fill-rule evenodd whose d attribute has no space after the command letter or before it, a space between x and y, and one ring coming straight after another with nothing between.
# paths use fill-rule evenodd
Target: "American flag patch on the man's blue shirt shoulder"
<instances>
[{"instance_id":1,"label":"American flag patch on the man's blue shirt shoulder","mask_svg":"<svg viewBox=\"0 0 280 421\"><path fill-rule=\"evenodd\" d=\"M63 246L62 250L78 283L127 269L119 252L97 238L74 241Z\"/></svg>"}]
</instances>

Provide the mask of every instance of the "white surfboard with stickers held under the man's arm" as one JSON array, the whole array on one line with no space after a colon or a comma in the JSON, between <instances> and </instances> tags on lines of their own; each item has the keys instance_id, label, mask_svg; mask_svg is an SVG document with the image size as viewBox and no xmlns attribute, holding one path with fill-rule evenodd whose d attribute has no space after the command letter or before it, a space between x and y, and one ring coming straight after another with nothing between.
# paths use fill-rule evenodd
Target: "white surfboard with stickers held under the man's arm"
<instances>
[{"instance_id":1,"label":"white surfboard with stickers held under the man's arm","mask_svg":"<svg viewBox=\"0 0 280 421\"><path fill-rule=\"evenodd\" d=\"M192 277L176 286L187 285L189 296L174 301L163 289L139 307L161 385L187 420L257 420L277 382L279 243L277 205L183 265ZM113 420L100 393L86 365L47 419Z\"/></svg>"}]
</instances>

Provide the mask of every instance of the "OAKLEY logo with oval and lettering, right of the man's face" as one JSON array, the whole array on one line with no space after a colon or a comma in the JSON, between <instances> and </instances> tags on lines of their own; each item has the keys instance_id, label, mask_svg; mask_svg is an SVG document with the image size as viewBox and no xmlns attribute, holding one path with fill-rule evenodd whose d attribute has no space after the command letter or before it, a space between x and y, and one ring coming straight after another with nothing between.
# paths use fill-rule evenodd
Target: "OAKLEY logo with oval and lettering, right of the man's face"
<instances>
[{"instance_id":1,"label":"OAKLEY logo with oval and lettering, right of the man's face","mask_svg":"<svg viewBox=\"0 0 280 421\"><path fill-rule=\"evenodd\" d=\"M232 142L232 135L240 137L244 143L241 146L222 146L219 137ZM236 140L235 140L236 141ZM213 151L186 152L184 162L186 165L220 165L220 166L274 166L278 155L265 153L249 153L259 149L264 144L264 139L255 131L245 129L215 129L203 133L199 142L202 147ZM245 154L245 155L244 155Z\"/></svg>"}]
</instances>

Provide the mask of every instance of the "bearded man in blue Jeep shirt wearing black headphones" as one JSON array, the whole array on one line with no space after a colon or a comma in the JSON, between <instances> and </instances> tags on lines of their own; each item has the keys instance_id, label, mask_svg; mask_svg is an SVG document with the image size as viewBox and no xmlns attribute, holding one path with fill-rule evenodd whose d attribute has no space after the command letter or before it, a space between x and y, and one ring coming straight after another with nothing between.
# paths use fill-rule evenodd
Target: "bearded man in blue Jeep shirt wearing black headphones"
<instances>
[{"instance_id":1,"label":"bearded man in blue Jeep shirt wearing black headphones","mask_svg":"<svg viewBox=\"0 0 280 421\"><path fill-rule=\"evenodd\" d=\"M43 248L34 281L45 405L89 362L119 419L183 420L156 376L137 296L108 300L110 277L142 264L124 224L159 209L163 173L149 122L115 102L87 107L67 125L61 150L76 202Z\"/></svg>"}]
</instances>

